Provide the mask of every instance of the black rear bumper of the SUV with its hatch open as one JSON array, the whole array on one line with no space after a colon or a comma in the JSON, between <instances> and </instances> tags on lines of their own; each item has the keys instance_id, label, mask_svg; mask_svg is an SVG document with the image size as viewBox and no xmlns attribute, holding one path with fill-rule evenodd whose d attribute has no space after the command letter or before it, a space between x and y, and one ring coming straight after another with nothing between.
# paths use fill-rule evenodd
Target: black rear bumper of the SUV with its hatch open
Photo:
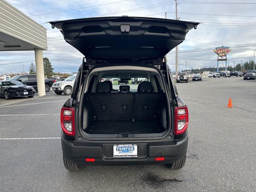
<instances>
[{"instance_id":1,"label":"black rear bumper of the SUV with its hatch open","mask_svg":"<svg viewBox=\"0 0 256 192\"><path fill-rule=\"evenodd\" d=\"M186 155L188 136L177 141L125 142L138 144L138 158L113 158L113 144L124 142L70 141L61 138L61 144L64 157L77 164L170 164ZM165 160L155 161L156 157L165 157ZM95 158L95 162L85 162L85 158Z\"/></svg>"}]
</instances>

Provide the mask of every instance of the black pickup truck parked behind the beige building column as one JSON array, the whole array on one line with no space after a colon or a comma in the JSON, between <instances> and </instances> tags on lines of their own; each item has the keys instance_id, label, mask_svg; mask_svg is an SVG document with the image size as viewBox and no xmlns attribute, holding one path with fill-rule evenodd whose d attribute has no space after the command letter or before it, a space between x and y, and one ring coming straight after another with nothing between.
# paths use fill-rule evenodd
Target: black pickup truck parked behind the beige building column
<instances>
[{"instance_id":1,"label":"black pickup truck parked behind the beige building column","mask_svg":"<svg viewBox=\"0 0 256 192\"><path fill-rule=\"evenodd\" d=\"M20 81L27 86L32 86L37 91L37 81L36 75L16 75L11 78L11 80ZM51 90L51 86L54 83L53 79L45 79L45 92L49 92Z\"/></svg>"}]
</instances>

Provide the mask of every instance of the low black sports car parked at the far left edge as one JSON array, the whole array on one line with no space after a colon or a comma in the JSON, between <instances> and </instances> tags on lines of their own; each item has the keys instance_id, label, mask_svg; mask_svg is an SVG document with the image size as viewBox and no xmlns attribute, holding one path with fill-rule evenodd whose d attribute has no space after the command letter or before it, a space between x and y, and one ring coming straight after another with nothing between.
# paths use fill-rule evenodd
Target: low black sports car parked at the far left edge
<instances>
[{"instance_id":1,"label":"low black sports car parked at the far left edge","mask_svg":"<svg viewBox=\"0 0 256 192\"><path fill-rule=\"evenodd\" d=\"M35 90L32 86L26 86L19 81L0 81L0 96L5 99L13 97L34 97Z\"/></svg>"}]
</instances>

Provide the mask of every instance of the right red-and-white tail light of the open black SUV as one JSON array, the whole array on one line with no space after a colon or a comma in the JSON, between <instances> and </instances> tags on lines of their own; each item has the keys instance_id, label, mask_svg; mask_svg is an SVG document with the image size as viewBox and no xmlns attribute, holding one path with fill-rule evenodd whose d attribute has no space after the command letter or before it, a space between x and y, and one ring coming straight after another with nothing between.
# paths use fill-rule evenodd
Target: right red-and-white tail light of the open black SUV
<instances>
[{"instance_id":1,"label":"right red-and-white tail light of the open black SUV","mask_svg":"<svg viewBox=\"0 0 256 192\"><path fill-rule=\"evenodd\" d=\"M174 134L182 134L188 128L188 107L175 108Z\"/></svg>"}]
</instances>

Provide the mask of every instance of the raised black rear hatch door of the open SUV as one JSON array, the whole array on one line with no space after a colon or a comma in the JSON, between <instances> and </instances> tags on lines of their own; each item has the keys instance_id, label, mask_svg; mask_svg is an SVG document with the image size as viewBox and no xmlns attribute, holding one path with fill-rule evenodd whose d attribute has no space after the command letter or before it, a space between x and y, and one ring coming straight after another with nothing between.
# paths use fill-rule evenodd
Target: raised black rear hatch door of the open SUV
<instances>
[{"instance_id":1,"label":"raised black rear hatch door of the open SUV","mask_svg":"<svg viewBox=\"0 0 256 192\"><path fill-rule=\"evenodd\" d=\"M199 23L143 17L102 17L52 21L86 62L160 60ZM159 61L160 61L159 60ZM162 62L162 61L160 61Z\"/></svg>"}]
</instances>

